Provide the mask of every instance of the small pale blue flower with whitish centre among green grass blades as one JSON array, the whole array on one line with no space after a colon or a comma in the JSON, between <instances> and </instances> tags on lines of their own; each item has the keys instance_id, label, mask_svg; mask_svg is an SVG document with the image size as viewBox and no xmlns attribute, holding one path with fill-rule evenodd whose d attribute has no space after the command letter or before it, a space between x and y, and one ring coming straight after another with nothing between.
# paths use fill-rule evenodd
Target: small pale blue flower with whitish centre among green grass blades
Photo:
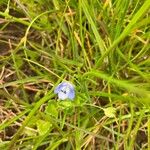
<instances>
[{"instance_id":1,"label":"small pale blue flower with whitish centre among green grass blades","mask_svg":"<svg viewBox=\"0 0 150 150\"><path fill-rule=\"evenodd\" d=\"M71 99L73 100L75 97L74 86L69 82L60 83L54 90L55 94L58 94L58 98L60 100Z\"/></svg>"}]
</instances>

